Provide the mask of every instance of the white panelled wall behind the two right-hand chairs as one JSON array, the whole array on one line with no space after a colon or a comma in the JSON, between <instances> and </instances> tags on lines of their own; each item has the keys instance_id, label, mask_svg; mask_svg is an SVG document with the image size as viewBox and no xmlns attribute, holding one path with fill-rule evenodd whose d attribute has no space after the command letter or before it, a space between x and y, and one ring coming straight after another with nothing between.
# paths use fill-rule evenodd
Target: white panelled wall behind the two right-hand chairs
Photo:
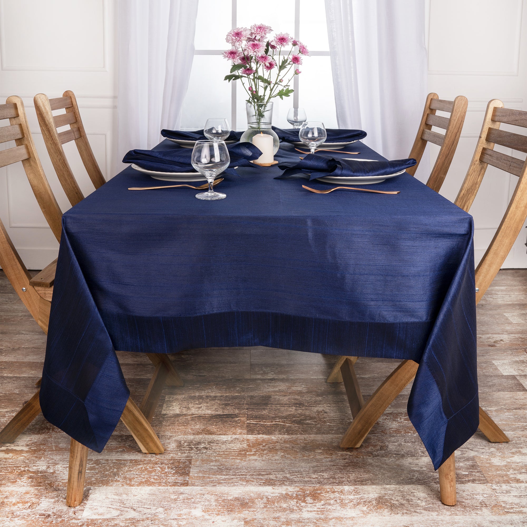
<instances>
[{"instance_id":1,"label":"white panelled wall behind the two right-hand chairs","mask_svg":"<svg viewBox=\"0 0 527 527\"><path fill-rule=\"evenodd\" d=\"M428 87L441 99L469 99L463 132L441 194L454 200L481 131L486 104L527 110L527 0L428 0ZM438 112L439 115L448 115ZM527 135L526 129L501 125ZM495 147L525 159L522 152ZM439 148L431 145L431 163ZM476 263L482 258L514 192L518 177L489 166L470 213L474 217ZM524 226L525 227L525 226ZM527 229L503 267L527 267Z\"/></svg>"}]
</instances>

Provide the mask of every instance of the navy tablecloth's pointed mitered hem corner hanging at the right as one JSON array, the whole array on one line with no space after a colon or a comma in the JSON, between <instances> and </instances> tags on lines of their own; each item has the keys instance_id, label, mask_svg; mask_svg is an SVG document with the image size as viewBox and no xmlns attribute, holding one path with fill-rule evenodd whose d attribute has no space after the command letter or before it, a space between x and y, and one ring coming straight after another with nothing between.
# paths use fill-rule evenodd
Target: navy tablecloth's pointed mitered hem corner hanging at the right
<instances>
[{"instance_id":1,"label":"navy tablecloth's pointed mitered hem corner hanging at the right","mask_svg":"<svg viewBox=\"0 0 527 527\"><path fill-rule=\"evenodd\" d=\"M443 410L443 399L430 369L419 364L416 382L408 399L408 417L421 437L426 451L437 470L460 446L472 437L479 426L479 397L476 393L450 417ZM426 401L427 404L420 404ZM473 406L473 408L470 408ZM467 415L476 415L471 422Z\"/></svg>"}]
</instances>

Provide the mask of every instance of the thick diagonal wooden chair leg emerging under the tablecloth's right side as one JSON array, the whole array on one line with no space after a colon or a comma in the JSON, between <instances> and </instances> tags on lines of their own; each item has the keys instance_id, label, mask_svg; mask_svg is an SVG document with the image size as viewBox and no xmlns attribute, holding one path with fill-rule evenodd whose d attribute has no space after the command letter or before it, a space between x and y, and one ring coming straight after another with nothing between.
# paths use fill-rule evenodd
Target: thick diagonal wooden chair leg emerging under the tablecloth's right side
<instances>
[{"instance_id":1,"label":"thick diagonal wooden chair leg emerging under the tablecloth's right side","mask_svg":"<svg viewBox=\"0 0 527 527\"><path fill-rule=\"evenodd\" d=\"M346 435L340 442L342 448L358 448L362 445L377 419L401 393L404 387L415 377L418 364L413 360L403 360L401 364L384 379L368 402L353 419Z\"/></svg>"}]
</instances>

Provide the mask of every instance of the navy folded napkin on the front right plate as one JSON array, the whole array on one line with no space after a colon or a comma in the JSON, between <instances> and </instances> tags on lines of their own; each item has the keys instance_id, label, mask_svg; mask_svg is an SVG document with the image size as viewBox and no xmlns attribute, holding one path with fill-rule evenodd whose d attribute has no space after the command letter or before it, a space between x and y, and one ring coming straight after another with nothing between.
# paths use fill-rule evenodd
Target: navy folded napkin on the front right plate
<instances>
[{"instance_id":1,"label":"navy folded napkin on the front right plate","mask_svg":"<svg viewBox=\"0 0 527 527\"><path fill-rule=\"evenodd\" d=\"M373 177L390 175L413 167L415 159L397 159L395 161L357 161L355 159L335 159L317 154L307 154L299 163L280 163L278 168L284 170L275 179L305 178L316 179L331 175L333 177Z\"/></svg>"}]
</instances>

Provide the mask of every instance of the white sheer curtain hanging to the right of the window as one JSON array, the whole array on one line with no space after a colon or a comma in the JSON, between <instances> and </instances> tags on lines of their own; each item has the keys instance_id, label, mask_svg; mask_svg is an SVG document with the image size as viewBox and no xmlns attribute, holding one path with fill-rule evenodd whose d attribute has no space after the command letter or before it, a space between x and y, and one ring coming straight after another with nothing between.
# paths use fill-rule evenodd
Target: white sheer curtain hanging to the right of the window
<instances>
[{"instance_id":1,"label":"white sheer curtain hanging to the right of the window","mask_svg":"<svg viewBox=\"0 0 527 527\"><path fill-rule=\"evenodd\" d=\"M339 127L406 158L427 94L424 0L326 0L326 19Z\"/></svg>"}]
</instances>

